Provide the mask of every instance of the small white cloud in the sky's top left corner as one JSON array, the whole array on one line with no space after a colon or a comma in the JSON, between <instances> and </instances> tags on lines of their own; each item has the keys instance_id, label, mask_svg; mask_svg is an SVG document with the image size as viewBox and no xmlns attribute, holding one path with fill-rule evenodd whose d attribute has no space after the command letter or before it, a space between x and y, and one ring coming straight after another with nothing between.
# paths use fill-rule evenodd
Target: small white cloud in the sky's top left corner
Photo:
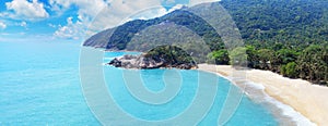
<instances>
[{"instance_id":1,"label":"small white cloud in the sky's top left corner","mask_svg":"<svg viewBox=\"0 0 328 126\"><path fill-rule=\"evenodd\" d=\"M11 17L15 20L40 20L49 16L47 11L44 9L44 4L37 2L37 0L13 0L5 2L7 11L1 13L1 16Z\"/></svg>"}]
</instances>

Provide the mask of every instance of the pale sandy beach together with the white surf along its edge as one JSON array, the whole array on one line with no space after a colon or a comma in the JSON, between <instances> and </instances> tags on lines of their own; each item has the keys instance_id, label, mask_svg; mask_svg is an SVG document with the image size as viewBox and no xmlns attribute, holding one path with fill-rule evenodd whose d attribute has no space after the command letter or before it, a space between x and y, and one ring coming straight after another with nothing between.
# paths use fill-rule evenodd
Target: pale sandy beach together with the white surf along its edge
<instances>
[{"instance_id":1,"label":"pale sandy beach together with the white surf along its edge","mask_svg":"<svg viewBox=\"0 0 328 126\"><path fill-rule=\"evenodd\" d=\"M266 104L274 110L274 116L280 116L282 125L328 124L326 121L328 87L312 85L302 79L286 78L270 71L235 70L230 65L199 64L198 66L199 71L216 73L237 85L238 81L233 79L233 72L243 72L246 80L239 83L246 85L245 92L250 98L266 100ZM281 117L282 115L284 117Z\"/></svg>"}]
</instances>

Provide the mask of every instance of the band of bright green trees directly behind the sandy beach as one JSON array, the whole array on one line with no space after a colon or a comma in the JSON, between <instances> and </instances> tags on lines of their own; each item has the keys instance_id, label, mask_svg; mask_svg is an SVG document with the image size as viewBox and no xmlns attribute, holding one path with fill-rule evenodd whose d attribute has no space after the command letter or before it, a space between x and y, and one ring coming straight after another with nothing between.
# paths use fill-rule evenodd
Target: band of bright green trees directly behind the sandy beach
<instances>
[{"instance_id":1,"label":"band of bright green trees directly behind the sandy beach","mask_svg":"<svg viewBox=\"0 0 328 126\"><path fill-rule=\"evenodd\" d=\"M244 58L247 54L247 66L251 68L269 70L291 78L303 78L316 84L326 85L328 81L328 46L312 45L304 50L270 49L256 50L253 46L237 48L229 55L230 58ZM214 51L220 52L220 51ZM211 55L211 59L221 60L227 56ZM229 59L230 60L230 59ZM234 62L230 62L234 64Z\"/></svg>"}]
</instances>

